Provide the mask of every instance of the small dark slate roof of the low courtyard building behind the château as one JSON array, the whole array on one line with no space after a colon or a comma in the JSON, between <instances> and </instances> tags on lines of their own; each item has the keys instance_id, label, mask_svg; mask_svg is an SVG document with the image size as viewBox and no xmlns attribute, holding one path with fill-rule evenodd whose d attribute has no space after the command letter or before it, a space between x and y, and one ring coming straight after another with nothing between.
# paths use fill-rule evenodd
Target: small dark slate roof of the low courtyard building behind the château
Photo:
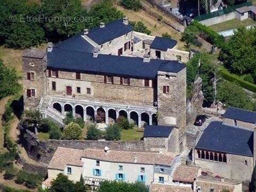
<instances>
[{"instance_id":1,"label":"small dark slate roof of the low courtyard building behind the ch\u00e2teau","mask_svg":"<svg viewBox=\"0 0 256 192\"><path fill-rule=\"evenodd\" d=\"M167 51L167 49L172 49L175 45L177 45L177 41L174 39L155 37L154 41L150 45L150 48Z\"/></svg>"}]
</instances>

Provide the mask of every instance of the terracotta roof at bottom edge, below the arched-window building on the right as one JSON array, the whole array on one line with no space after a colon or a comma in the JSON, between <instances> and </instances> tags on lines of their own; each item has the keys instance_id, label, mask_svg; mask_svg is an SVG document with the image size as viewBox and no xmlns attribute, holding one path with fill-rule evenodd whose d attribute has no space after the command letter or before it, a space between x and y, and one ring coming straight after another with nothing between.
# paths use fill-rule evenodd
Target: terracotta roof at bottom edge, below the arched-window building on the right
<instances>
[{"instance_id":1,"label":"terracotta roof at bottom edge, below the arched-window building on the right","mask_svg":"<svg viewBox=\"0 0 256 192\"><path fill-rule=\"evenodd\" d=\"M234 191L234 188L235 188L235 185L231 185L228 183L204 181L204 180L197 180L196 185L197 187L199 186L201 187L201 191L210 191L211 189L214 189L214 192L221 192L223 189Z\"/></svg>"}]
</instances>

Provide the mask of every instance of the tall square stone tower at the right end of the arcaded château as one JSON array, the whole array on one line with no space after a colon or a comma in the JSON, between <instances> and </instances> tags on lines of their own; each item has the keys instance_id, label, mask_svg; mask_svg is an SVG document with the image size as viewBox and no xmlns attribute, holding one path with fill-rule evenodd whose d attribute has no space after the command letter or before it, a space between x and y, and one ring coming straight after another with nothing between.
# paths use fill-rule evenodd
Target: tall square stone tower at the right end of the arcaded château
<instances>
[{"instance_id":1,"label":"tall square stone tower at the right end of the arcaded ch\u00e2teau","mask_svg":"<svg viewBox=\"0 0 256 192\"><path fill-rule=\"evenodd\" d=\"M185 145L186 129L186 68L179 73L157 73L157 111L158 125L173 125L178 128L174 131L175 141L172 142L172 151L179 151Z\"/></svg>"}]
</instances>

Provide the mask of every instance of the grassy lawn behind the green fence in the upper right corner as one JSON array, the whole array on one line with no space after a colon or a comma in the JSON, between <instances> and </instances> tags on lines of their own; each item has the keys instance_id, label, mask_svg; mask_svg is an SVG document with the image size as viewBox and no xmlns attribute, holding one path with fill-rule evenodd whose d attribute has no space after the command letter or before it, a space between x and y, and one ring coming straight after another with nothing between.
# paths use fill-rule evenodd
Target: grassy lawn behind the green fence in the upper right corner
<instances>
[{"instance_id":1,"label":"grassy lawn behind the green fence in the upper right corner","mask_svg":"<svg viewBox=\"0 0 256 192\"><path fill-rule=\"evenodd\" d=\"M256 0L255 0L256 1ZM256 21L253 21L252 19L246 19L243 21L238 21L237 19L225 21L216 25L209 26L213 30L219 32L219 31L225 31L229 29L236 29L239 27L246 27L249 25L256 25Z\"/></svg>"}]
</instances>

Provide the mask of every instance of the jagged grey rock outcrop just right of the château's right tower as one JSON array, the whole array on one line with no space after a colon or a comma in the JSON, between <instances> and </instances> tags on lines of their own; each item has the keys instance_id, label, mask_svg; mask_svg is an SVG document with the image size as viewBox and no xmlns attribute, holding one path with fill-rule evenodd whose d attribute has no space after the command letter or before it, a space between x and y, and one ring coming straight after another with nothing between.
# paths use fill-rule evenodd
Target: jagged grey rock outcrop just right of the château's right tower
<instances>
[{"instance_id":1,"label":"jagged grey rock outcrop just right of the ch\u00e2teau's right tower","mask_svg":"<svg viewBox=\"0 0 256 192\"><path fill-rule=\"evenodd\" d=\"M202 78L197 77L193 85L193 96L187 101L187 123L194 121L196 116L202 112L203 101Z\"/></svg>"}]
</instances>

